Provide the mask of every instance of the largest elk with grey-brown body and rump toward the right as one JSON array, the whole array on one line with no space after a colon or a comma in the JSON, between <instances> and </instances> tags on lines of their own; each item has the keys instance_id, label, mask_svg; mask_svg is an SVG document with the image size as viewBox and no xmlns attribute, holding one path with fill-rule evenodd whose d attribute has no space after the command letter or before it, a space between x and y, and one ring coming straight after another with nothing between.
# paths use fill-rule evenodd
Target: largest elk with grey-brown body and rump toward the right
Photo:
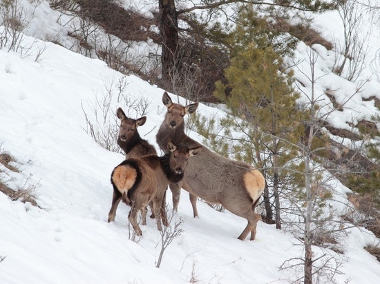
<instances>
[{"instance_id":1,"label":"largest elk with grey-brown body and rump toward the right","mask_svg":"<svg viewBox=\"0 0 380 284\"><path fill-rule=\"evenodd\" d=\"M173 103L167 92L164 92L162 103L167 107L167 114L156 135L160 148L167 152L164 146L169 140L188 148L202 148L200 154L189 161L182 181L170 184L174 209L178 210L182 187L190 194L194 217L198 217L197 196L209 203L221 204L229 212L248 221L238 239L245 240L251 232L251 241L254 240L257 222L260 220L260 215L254 209L265 188L263 174L247 163L233 161L211 152L184 133L184 116L195 112L198 103L187 106Z\"/></svg>"}]
</instances>

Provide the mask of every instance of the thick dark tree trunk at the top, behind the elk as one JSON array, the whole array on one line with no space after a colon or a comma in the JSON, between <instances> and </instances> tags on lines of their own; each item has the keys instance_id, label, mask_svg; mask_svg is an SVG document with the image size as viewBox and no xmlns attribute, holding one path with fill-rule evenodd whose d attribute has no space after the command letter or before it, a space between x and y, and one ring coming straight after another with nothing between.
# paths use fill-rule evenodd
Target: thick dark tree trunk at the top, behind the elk
<instances>
[{"instance_id":1,"label":"thick dark tree trunk at the top, behind the elk","mask_svg":"<svg viewBox=\"0 0 380 284\"><path fill-rule=\"evenodd\" d=\"M162 80L169 82L171 72L178 72L178 12L174 0L159 0L160 33L162 42ZM178 73L180 74L180 73Z\"/></svg>"}]
</instances>

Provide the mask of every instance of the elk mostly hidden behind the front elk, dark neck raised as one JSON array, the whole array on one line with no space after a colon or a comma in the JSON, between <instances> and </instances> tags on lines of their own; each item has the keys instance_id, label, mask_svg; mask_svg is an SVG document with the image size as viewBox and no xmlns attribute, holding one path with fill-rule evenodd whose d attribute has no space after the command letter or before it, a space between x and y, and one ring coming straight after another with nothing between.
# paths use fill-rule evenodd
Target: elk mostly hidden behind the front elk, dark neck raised
<instances>
[{"instance_id":1,"label":"elk mostly hidden behind the front elk, dark neck raised","mask_svg":"<svg viewBox=\"0 0 380 284\"><path fill-rule=\"evenodd\" d=\"M126 117L122 108L118 108L116 116L120 119L119 134L117 136L117 145L124 151L125 159L140 158L149 154L157 155L155 147L148 141L141 138L137 128L144 125L146 122L146 116L140 117L140 119L129 119ZM117 206L122 200L122 196L117 192L113 192L113 200L115 200L115 214ZM116 196L115 196L116 194ZM165 202L164 199L163 202ZM144 210L144 213L146 210ZM155 218L154 215L151 216ZM113 217L115 219L115 216ZM142 225L146 225L146 215L143 214Z\"/></svg>"}]
</instances>

